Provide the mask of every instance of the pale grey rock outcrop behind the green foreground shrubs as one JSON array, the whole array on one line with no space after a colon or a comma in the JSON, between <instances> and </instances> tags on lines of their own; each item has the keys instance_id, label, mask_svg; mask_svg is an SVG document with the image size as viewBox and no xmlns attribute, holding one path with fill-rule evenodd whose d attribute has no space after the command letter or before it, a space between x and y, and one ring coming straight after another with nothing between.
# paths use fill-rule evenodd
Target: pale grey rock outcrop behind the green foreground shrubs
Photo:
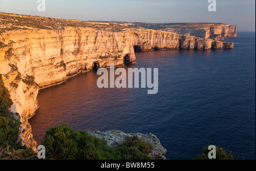
<instances>
[{"instance_id":1,"label":"pale grey rock outcrop behind the green foreground shrubs","mask_svg":"<svg viewBox=\"0 0 256 171\"><path fill-rule=\"evenodd\" d=\"M96 136L97 138L106 140L108 146L110 147L118 147L120 146L126 136L138 136L144 142L148 142L153 146L152 153L150 153L150 157L156 160L164 160L166 157L164 156L167 152L166 148L164 148L160 140L153 134L141 134L141 133L129 133L126 134L125 132L119 130L111 130L106 132L101 131L87 131L90 135Z\"/></svg>"}]
</instances>

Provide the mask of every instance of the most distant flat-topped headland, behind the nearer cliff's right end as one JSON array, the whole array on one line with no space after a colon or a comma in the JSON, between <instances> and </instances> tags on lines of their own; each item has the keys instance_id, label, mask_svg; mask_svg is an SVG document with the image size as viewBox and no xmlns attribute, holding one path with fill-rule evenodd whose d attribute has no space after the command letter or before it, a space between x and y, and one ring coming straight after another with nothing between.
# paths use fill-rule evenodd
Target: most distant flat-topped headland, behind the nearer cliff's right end
<instances>
[{"instance_id":1,"label":"most distant flat-topped headland, behind the nearer cliff's right end","mask_svg":"<svg viewBox=\"0 0 256 171\"><path fill-rule=\"evenodd\" d=\"M237 37L236 25L223 23L130 23L144 28L223 41L224 37Z\"/></svg>"}]
</instances>

